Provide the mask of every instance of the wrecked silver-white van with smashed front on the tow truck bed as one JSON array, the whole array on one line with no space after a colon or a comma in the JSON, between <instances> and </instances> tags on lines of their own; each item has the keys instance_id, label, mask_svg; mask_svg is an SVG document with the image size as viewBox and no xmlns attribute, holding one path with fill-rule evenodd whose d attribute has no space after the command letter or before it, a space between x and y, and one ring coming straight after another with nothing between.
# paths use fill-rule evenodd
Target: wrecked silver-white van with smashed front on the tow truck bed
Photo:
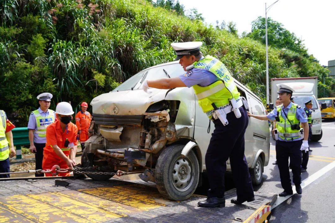
<instances>
[{"instance_id":1,"label":"wrecked silver-white van with smashed front on the tow truck bed","mask_svg":"<svg viewBox=\"0 0 335 223\"><path fill-rule=\"evenodd\" d=\"M140 173L142 180L155 182L159 192L171 200L185 200L194 193L206 171L205 154L214 124L202 112L192 88L142 90L145 80L183 73L178 62L150 67L91 101L93 135L85 142L81 163L97 174L88 177L107 180L117 171ZM265 115L261 100L235 82L249 111ZM269 162L269 137L267 121L249 118L245 156L255 185L261 183Z\"/></svg>"}]
</instances>

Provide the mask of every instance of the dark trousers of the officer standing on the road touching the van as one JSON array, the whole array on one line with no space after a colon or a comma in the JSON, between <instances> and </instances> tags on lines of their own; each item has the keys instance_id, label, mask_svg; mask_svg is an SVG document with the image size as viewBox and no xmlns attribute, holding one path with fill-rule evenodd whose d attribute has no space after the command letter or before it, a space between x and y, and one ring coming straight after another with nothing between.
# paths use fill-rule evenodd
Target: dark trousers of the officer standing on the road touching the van
<instances>
[{"instance_id":1,"label":"dark trousers of the officer standing on the road touching the van","mask_svg":"<svg viewBox=\"0 0 335 223\"><path fill-rule=\"evenodd\" d=\"M280 175L280 183L284 191L291 193L292 185L288 169L288 157L292 168L293 183L295 186L301 183L301 161L302 152L300 147L303 140L297 141L276 141L276 158Z\"/></svg>"}]
</instances>

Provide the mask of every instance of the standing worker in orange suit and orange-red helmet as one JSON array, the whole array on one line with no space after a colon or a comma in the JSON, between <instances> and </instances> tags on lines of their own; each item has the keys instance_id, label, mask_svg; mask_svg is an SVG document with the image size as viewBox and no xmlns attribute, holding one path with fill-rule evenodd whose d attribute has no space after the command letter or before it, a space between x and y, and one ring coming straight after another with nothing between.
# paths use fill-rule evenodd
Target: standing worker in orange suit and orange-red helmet
<instances>
[{"instance_id":1,"label":"standing worker in orange suit and orange-red helmet","mask_svg":"<svg viewBox=\"0 0 335 223\"><path fill-rule=\"evenodd\" d=\"M76 125L78 127L79 141L81 149L84 150L85 141L88 139L88 129L91 124L92 116L87 111L86 102L80 104L80 111L76 114Z\"/></svg>"}]
</instances>

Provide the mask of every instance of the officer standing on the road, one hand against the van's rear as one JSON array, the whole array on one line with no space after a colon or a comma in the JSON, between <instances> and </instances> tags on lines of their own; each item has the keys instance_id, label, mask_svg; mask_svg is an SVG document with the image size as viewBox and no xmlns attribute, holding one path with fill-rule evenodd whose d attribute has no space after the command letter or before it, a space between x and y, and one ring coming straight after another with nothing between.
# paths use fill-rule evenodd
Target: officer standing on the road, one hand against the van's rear
<instances>
[{"instance_id":1,"label":"officer standing on the road, one hand against the van's rear","mask_svg":"<svg viewBox=\"0 0 335 223\"><path fill-rule=\"evenodd\" d=\"M250 117L260 120L276 120L278 130L278 140L276 141L276 158L280 174L280 182L284 191L280 197L293 194L290 173L288 168L288 158L293 173L293 183L298 194L302 194L301 184L301 160L300 150L308 149L308 123L307 115L302 107L290 101L293 89L287 85L279 85L279 100L282 105L276 106L268 115L253 115L248 112ZM299 124L304 129L304 139Z\"/></svg>"}]
</instances>

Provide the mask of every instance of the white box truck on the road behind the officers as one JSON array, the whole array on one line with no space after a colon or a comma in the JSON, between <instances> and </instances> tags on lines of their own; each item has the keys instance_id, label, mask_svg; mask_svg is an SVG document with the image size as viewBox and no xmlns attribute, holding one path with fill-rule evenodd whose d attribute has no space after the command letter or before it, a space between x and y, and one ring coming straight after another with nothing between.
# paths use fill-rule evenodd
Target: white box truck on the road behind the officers
<instances>
[{"instance_id":1,"label":"white box truck on the road behind the officers","mask_svg":"<svg viewBox=\"0 0 335 223\"><path fill-rule=\"evenodd\" d=\"M291 87L293 92L293 101L302 107L305 107L305 102L312 99L312 141L319 141L322 137L321 129L321 110L317 101L318 97L318 77L306 78L272 78L271 79L271 101L276 104L278 96L278 85L286 84Z\"/></svg>"}]
</instances>

